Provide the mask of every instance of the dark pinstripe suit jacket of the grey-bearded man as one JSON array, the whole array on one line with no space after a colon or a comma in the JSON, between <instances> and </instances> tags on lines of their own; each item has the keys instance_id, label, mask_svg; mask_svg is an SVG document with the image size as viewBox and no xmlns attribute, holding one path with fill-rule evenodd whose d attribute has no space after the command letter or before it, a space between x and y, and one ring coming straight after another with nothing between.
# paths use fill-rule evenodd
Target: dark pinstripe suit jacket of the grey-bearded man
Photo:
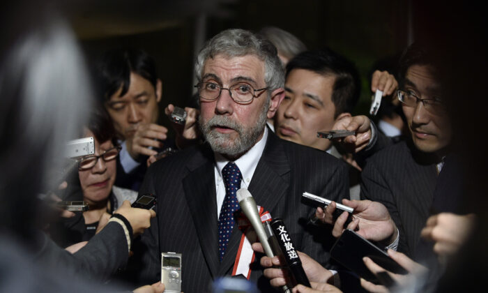
<instances>
[{"instance_id":1,"label":"dark pinstripe suit jacket of the grey-bearded man","mask_svg":"<svg viewBox=\"0 0 488 293\"><path fill-rule=\"evenodd\" d=\"M139 283L160 280L160 254L167 251L183 254L185 293L207 292L213 279L232 272L242 233L234 227L224 260L219 262L214 164L213 152L205 144L176 153L149 168L139 193L158 196L158 216L137 244L139 251L135 251ZM346 166L340 160L280 140L270 132L249 190L271 216L284 219L297 250L328 264L328 248L333 239L328 232L322 230L317 234L314 231L317 228L305 227L314 209L301 204L300 197L304 191L330 200L347 197L347 176ZM142 255L137 255L141 250ZM270 290L259 267L253 269L251 280L257 282L261 291Z\"/></svg>"}]
</instances>

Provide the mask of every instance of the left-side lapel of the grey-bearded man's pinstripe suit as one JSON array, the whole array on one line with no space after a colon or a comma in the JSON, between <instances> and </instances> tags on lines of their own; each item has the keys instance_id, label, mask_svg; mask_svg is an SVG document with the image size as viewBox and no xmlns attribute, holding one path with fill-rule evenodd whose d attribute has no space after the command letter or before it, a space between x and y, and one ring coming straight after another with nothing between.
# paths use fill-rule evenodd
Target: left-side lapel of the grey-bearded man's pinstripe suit
<instances>
[{"instance_id":1,"label":"left-side lapel of the grey-bearded man's pinstripe suit","mask_svg":"<svg viewBox=\"0 0 488 293\"><path fill-rule=\"evenodd\" d=\"M215 278L219 260L213 154L204 151L187 167L190 174L183 179L185 197L208 269Z\"/></svg>"}]
</instances>

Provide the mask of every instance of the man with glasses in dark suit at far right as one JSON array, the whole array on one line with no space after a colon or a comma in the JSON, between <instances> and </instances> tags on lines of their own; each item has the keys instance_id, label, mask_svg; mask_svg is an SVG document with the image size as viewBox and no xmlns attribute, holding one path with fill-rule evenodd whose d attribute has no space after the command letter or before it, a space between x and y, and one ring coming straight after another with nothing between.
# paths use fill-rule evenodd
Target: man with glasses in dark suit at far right
<instances>
[{"instance_id":1,"label":"man with glasses in dark suit at far right","mask_svg":"<svg viewBox=\"0 0 488 293\"><path fill-rule=\"evenodd\" d=\"M362 174L361 196L388 208L399 230L399 251L410 256L430 215L443 158L450 153L451 126L434 60L419 44L402 56L398 98L411 137L372 156Z\"/></svg>"}]
</instances>

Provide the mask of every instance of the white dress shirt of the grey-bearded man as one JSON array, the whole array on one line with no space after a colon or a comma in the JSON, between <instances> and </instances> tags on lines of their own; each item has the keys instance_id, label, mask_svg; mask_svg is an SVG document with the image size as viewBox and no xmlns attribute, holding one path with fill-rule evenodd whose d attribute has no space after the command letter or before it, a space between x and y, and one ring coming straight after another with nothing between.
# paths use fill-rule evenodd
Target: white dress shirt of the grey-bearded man
<instances>
[{"instance_id":1,"label":"white dress shirt of the grey-bearded man","mask_svg":"<svg viewBox=\"0 0 488 293\"><path fill-rule=\"evenodd\" d=\"M241 158L238 158L234 161L236 163L239 170L241 170L241 174L243 175L243 179L241 181L241 188L248 188L252 175L254 174L254 170L256 170L257 163L263 154L264 147L266 146L266 139L268 138L268 128L264 128L263 137L261 140L254 144L249 151L243 154ZM225 198L225 186L224 186L224 179L222 179L222 169L224 169L225 165L229 163L229 160L224 158L219 153L214 153L215 157L215 191L217 194L217 218L220 215L220 209L222 208L222 204L224 203Z\"/></svg>"}]
</instances>

